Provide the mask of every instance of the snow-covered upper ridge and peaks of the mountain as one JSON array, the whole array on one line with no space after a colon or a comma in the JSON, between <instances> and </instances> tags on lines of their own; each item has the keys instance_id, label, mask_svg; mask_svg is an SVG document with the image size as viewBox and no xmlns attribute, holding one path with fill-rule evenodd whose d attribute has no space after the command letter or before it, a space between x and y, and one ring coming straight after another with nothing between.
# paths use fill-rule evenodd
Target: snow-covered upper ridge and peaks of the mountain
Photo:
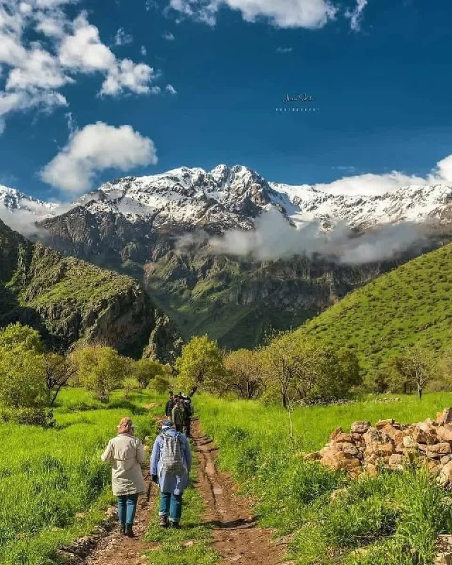
<instances>
[{"instance_id":1,"label":"snow-covered upper ridge and peaks of the mountain","mask_svg":"<svg viewBox=\"0 0 452 565\"><path fill-rule=\"evenodd\" d=\"M452 222L452 186L406 186L381 196L345 196L309 185L269 183L242 166L219 165L210 172L182 167L107 182L64 208L0 186L3 217L8 212L39 221L79 206L97 217L121 215L132 223L146 222L153 229L249 229L254 218L272 207L294 223L319 220L328 228L343 221L366 228L405 221Z\"/></svg>"}]
</instances>

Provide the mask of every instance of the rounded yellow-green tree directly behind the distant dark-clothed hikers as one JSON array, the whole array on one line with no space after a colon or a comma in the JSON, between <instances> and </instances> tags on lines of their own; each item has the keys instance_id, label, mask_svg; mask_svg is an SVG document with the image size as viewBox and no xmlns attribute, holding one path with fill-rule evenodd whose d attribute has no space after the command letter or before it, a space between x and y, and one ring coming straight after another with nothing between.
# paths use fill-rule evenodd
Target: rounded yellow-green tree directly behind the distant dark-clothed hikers
<instances>
[{"instance_id":1,"label":"rounded yellow-green tree directly behind the distant dark-clothed hikers","mask_svg":"<svg viewBox=\"0 0 452 565\"><path fill-rule=\"evenodd\" d=\"M218 392L222 388L225 366L216 341L207 335L191 338L182 347L182 354L176 360L179 372L179 386L194 394L198 388Z\"/></svg>"}]
</instances>

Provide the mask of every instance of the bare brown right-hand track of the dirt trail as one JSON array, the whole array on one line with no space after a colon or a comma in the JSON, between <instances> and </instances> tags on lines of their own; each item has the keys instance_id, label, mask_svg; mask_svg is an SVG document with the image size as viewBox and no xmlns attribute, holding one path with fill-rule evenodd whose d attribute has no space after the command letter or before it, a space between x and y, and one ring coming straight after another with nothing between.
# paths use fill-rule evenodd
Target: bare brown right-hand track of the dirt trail
<instances>
[{"instance_id":1,"label":"bare brown right-hand track of the dirt trail","mask_svg":"<svg viewBox=\"0 0 452 565\"><path fill-rule=\"evenodd\" d=\"M258 528L251 505L244 496L234 496L229 475L215 468L218 448L194 421L193 440L200 463L198 490L206 506L206 520L213 524L215 548L221 565L276 565L284 559L285 545L271 540L271 530Z\"/></svg>"}]
</instances>

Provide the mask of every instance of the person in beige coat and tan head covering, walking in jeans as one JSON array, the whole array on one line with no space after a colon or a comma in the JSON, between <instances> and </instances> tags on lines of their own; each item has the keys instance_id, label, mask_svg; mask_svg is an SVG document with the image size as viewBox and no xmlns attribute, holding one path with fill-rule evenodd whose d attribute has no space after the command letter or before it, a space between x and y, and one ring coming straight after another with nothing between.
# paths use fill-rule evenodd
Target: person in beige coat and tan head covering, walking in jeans
<instances>
[{"instance_id":1,"label":"person in beige coat and tan head covering, walking in jeans","mask_svg":"<svg viewBox=\"0 0 452 565\"><path fill-rule=\"evenodd\" d=\"M133 520L138 494L145 492L141 465L145 454L141 440L133 435L130 418L123 418L117 426L118 435L108 442L102 461L112 462L112 490L118 501L121 534L133 537Z\"/></svg>"}]
</instances>

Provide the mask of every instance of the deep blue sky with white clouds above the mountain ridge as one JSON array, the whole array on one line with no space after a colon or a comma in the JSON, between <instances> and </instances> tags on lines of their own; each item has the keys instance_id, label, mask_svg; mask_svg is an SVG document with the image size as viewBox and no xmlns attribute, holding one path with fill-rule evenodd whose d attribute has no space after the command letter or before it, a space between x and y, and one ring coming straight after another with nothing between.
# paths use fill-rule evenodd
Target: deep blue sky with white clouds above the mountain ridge
<instances>
[{"instance_id":1,"label":"deep blue sky with white clouds above the mountain ridge","mask_svg":"<svg viewBox=\"0 0 452 565\"><path fill-rule=\"evenodd\" d=\"M446 0L20 6L0 0L0 184L33 196L222 162L290 184L427 179L452 153ZM318 111L277 112L287 93Z\"/></svg>"}]
</instances>

